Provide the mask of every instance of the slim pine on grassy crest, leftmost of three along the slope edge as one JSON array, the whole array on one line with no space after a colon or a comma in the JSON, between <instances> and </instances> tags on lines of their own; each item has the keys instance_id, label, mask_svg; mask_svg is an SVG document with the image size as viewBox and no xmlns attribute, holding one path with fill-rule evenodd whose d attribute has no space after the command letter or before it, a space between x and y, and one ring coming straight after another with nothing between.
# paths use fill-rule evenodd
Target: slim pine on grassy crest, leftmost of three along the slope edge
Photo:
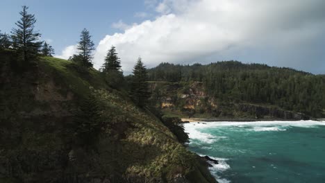
<instances>
[{"instance_id":1,"label":"slim pine on grassy crest, leftmost of three along the slope edge","mask_svg":"<svg viewBox=\"0 0 325 183\"><path fill-rule=\"evenodd\" d=\"M84 67L92 67L92 51L94 51L94 42L91 40L92 36L90 35L87 29L83 29L80 35L80 42L78 43L77 49L80 51L79 55L83 58L81 64Z\"/></svg>"}]
</instances>

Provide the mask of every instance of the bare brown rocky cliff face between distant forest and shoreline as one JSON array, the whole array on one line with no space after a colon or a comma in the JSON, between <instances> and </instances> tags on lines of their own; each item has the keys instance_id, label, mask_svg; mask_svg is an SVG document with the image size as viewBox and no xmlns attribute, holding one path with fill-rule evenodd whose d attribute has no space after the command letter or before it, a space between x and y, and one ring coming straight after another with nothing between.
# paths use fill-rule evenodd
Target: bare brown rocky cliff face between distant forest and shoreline
<instances>
[{"instance_id":1,"label":"bare brown rocky cliff face between distant forest and shoreline","mask_svg":"<svg viewBox=\"0 0 325 183\"><path fill-rule=\"evenodd\" d=\"M188 115L188 111L204 116L247 119L292 119L306 120L308 116L299 112L281 110L268 105L249 103L217 103L217 99L206 94L202 82L171 83L151 82L151 90L159 107ZM158 94L156 91L159 91Z\"/></svg>"}]
</instances>

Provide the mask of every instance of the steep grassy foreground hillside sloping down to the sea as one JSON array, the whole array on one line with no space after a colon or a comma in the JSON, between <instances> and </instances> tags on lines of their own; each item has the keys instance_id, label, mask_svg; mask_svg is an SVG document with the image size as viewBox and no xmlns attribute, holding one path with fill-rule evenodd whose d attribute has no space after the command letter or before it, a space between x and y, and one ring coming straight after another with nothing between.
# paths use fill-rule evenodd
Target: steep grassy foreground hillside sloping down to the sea
<instances>
[{"instance_id":1,"label":"steep grassy foreground hillside sloping down to the sea","mask_svg":"<svg viewBox=\"0 0 325 183\"><path fill-rule=\"evenodd\" d=\"M0 182L215 182L98 71L48 57L26 67L8 51L0 66Z\"/></svg>"}]
</instances>

